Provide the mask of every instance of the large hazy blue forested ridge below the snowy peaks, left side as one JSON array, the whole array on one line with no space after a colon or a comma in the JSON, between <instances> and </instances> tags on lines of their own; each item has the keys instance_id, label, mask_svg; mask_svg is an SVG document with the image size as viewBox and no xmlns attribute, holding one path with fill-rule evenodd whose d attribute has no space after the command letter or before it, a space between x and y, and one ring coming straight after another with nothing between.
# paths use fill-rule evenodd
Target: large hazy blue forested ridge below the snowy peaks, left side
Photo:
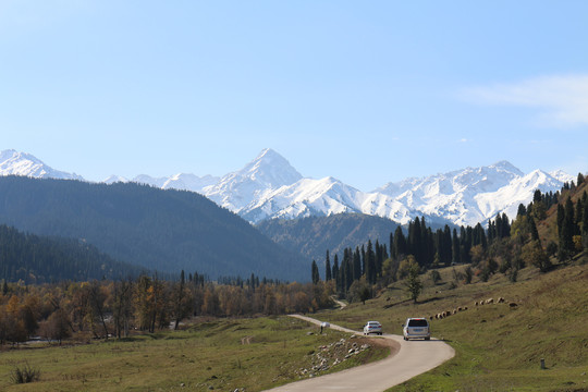
<instances>
[{"instance_id":1,"label":"large hazy blue forested ridge below the snowy peaks, left side","mask_svg":"<svg viewBox=\"0 0 588 392\"><path fill-rule=\"evenodd\" d=\"M0 224L83 240L117 260L160 271L308 280L302 256L191 192L4 176Z\"/></svg>"}]
</instances>

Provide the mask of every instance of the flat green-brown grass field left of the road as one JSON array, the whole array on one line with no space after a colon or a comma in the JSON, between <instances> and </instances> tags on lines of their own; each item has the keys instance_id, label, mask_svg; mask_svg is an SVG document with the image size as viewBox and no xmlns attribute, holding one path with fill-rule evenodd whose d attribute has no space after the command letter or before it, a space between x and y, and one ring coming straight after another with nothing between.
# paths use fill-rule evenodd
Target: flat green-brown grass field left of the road
<instances>
[{"instance_id":1,"label":"flat green-brown grass field left of the road","mask_svg":"<svg viewBox=\"0 0 588 392\"><path fill-rule=\"evenodd\" d=\"M123 341L8 350L0 353L0 390L260 391L298 380L299 369L311 366L309 353L348 338L332 330L317 332L317 327L289 317L221 319ZM387 352L367 351L333 370L376 360ZM40 381L12 383L12 371L25 364L40 370Z\"/></svg>"}]
</instances>

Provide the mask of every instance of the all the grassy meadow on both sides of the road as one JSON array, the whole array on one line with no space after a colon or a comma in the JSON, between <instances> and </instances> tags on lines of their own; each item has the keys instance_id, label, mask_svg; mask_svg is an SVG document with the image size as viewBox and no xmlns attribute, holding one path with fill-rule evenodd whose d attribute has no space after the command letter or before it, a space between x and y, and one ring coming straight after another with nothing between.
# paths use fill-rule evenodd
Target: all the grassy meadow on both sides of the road
<instances>
[{"instance_id":1,"label":"all the grassy meadow on both sides of the road","mask_svg":"<svg viewBox=\"0 0 588 392\"><path fill-rule=\"evenodd\" d=\"M581 262L584 261L584 262ZM456 356L390 391L588 391L588 264L556 266L540 273L529 267L517 282L497 273L488 282L455 282L440 270L414 304L402 282L382 289L365 305L323 310L316 318L359 330L379 320L384 332L402 334L406 317L467 307L431 321L433 336ZM498 304L499 297L505 303ZM475 306L493 298L493 304ZM510 303L517 304L511 307ZM62 346L21 346L0 352L1 391L261 391L307 378L324 346L350 335L290 317L196 320L182 331L139 334L117 341ZM358 335L353 341L366 342ZM370 340L373 343L376 340ZM427 344L422 342L422 344ZM372 347L327 372L388 355ZM546 369L540 362L544 359ZM332 363L331 358L331 363ZM14 384L15 367L39 369L40 380ZM393 369L391 369L393 371ZM321 372L323 373L323 372Z\"/></svg>"}]
</instances>

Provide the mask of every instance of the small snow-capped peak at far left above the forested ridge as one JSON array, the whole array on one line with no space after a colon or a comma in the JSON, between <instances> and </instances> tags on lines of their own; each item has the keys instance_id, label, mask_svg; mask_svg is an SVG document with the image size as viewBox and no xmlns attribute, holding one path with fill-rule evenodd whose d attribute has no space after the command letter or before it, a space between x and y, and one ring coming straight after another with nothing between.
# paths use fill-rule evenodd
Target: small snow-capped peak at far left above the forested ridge
<instances>
[{"instance_id":1,"label":"small snow-capped peak at far left above the forested ridge","mask_svg":"<svg viewBox=\"0 0 588 392\"><path fill-rule=\"evenodd\" d=\"M75 173L54 170L39 159L13 149L0 152L0 175L23 175L37 179L84 180Z\"/></svg>"}]
</instances>

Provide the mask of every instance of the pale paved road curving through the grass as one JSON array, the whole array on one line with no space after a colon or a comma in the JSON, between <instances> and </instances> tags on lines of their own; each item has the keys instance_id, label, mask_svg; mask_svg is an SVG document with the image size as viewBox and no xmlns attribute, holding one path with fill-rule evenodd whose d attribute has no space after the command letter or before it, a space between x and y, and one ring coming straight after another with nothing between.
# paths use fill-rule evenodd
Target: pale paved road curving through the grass
<instances>
[{"instance_id":1,"label":"pale paved road curving through the grass","mask_svg":"<svg viewBox=\"0 0 588 392\"><path fill-rule=\"evenodd\" d=\"M320 324L320 320L310 317L292 315L292 317ZM343 332L360 333L347 328L331 324L331 329ZM358 366L335 373L292 382L273 388L272 392L295 391L362 391L381 392L397 385L415 376L424 373L455 355L455 351L446 343L431 338L430 341L404 341L400 335L384 334L400 350L385 359Z\"/></svg>"}]
</instances>

